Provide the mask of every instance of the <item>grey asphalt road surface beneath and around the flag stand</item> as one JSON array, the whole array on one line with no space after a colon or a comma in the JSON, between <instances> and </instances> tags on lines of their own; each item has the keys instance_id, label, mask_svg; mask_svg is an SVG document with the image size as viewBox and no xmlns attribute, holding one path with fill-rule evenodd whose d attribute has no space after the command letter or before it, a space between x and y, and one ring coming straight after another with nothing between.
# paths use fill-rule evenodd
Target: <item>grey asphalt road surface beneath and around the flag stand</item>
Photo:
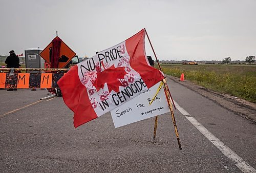
<instances>
[{"instance_id":1,"label":"grey asphalt road surface beneath and around the flag stand","mask_svg":"<svg viewBox=\"0 0 256 173\"><path fill-rule=\"evenodd\" d=\"M168 85L181 111L182 150L170 114L159 116L153 140L155 118L114 128L108 113L74 128L61 97L39 101L46 90L0 90L0 172L254 172L255 123L179 83Z\"/></svg>"}]
</instances>

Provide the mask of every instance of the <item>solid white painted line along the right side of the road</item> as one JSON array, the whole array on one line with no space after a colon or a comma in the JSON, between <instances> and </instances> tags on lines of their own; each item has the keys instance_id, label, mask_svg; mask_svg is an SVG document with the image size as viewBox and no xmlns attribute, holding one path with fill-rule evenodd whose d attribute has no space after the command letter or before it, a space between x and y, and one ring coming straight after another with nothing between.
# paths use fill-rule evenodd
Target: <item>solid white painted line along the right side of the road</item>
<instances>
[{"instance_id":1,"label":"solid white painted line along the right side of the road","mask_svg":"<svg viewBox=\"0 0 256 173\"><path fill-rule=\"evenodd\" d=\"M245 162L241 157L234 153L229 147L227 147L223 142L221 142L217 137L210 133L200 122L198 122L194 117L190 115L176 102L174 101L177 110L186 117L186 119L191 122L212 144L214 144L220 151L229 159L236 162L236 166L243 172L256 172L256 170L251 167L247 162Z\"/></svg>"}]
</instances>

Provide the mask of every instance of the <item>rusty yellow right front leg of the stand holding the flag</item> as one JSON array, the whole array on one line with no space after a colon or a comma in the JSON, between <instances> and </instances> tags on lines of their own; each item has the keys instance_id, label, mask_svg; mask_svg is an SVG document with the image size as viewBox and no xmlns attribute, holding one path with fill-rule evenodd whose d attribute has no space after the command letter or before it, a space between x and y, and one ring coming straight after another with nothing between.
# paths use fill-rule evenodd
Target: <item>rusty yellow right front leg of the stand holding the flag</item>
<instances>
[{"instance_id":1,"label":"rusty yellow right front leg of the stand holding the flag","mask_svg":"<svg viewBox=\"0 0 256 173\"><path fill-rule=\"evenodd\" d=\"M163 79L163 88L164 88L164 93L165 93L166 100L167 100L167 103L168 103L168 106L170 109L170 114L172 115L172 119L173 119L173 123L174 123L174 130L175 130L175 134L177 137L178 145L181 150L182 148L181 148L181 144L180 144L180 137L179 137L179 133L178 133L175 117L174 117L174 110L173 110L172 102L170 102L170 95L168 92L168 85L166 83L166 78Z\"/></svg>"}]
</instances>

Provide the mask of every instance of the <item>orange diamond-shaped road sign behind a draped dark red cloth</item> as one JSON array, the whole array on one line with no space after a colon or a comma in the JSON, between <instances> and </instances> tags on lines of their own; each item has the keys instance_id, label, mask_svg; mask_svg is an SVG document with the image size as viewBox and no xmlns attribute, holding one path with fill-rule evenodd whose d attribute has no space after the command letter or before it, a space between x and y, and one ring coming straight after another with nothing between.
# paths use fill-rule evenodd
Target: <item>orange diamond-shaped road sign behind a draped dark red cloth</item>
<instances>
[{"instance_id":1,"label":"orange diamond-shaped road sign behind a draped dark red cloth","mask_svg":"<svg viewBox=\"0 0 256 173\"><path fill-rule=\"evenodd\" d=\"M56 36L55 38L57 38ZM61 40L60 51L59 51L59 64L58 68L62 69L69 61L76 55L66 44ZM44 58L49 64L51 64L52 58L52 42L40 53L40 56Z\"/></svg>"}]
</instances>

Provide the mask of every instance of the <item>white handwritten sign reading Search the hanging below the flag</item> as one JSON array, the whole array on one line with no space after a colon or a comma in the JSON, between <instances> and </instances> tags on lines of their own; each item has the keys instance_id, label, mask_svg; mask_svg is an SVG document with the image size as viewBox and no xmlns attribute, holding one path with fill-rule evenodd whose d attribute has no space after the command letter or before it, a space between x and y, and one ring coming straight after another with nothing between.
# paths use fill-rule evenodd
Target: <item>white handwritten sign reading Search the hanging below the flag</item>
<instances>
[{"instance_id":1,"label":"white handwritten sign reading Search the hanging below the flag","mask_svg":"<svg viewBox=\"0 0 256 173\"><path fill-rule=\"evenodd\" d=\"M115 128L169 112L163 87L153 103L149 104L155 96L159 85L160 82L134 99L113 109L111 116Z\"/></svg>"}]
</instances>

